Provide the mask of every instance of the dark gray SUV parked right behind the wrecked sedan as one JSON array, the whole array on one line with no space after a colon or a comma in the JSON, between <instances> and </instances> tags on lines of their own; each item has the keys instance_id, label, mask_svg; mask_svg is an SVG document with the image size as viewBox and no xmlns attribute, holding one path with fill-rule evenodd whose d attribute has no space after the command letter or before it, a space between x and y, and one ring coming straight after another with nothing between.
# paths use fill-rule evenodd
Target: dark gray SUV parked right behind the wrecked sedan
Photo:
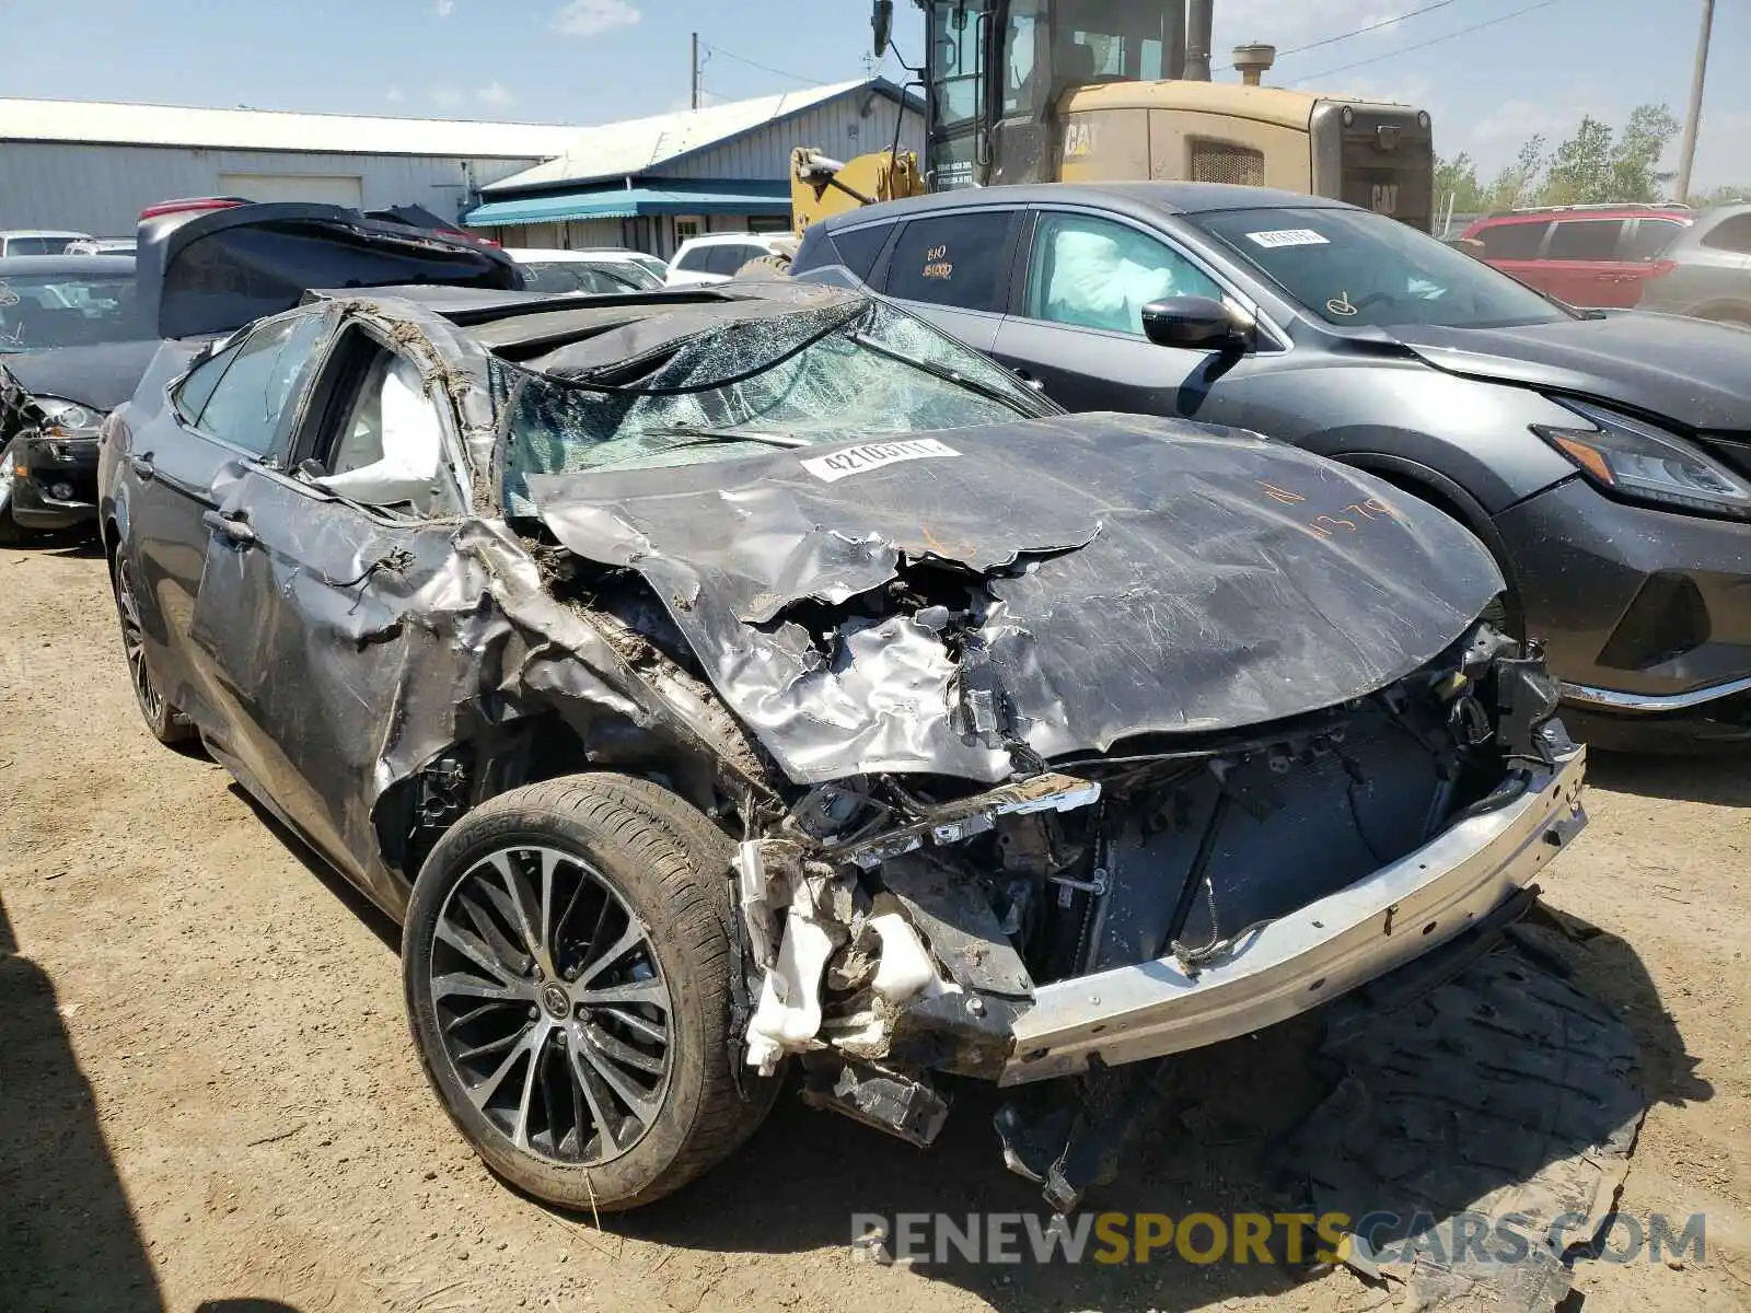
<instances>
[{"instance_id":1,"label":"dark gray SUV parked right behind the wrecked sedan","mask_svg":"<svg viewBox=\"0 0 1751 1313\"><path fill-rule=\"evenodd\" d=\"M897 201L811 228L795 271L902 301L1070 410L1375 471L1488 544L1595 742L1751 744L1744 329L1572 310L1382 215L1217 184Z\"/></svg>"}]
</instances>

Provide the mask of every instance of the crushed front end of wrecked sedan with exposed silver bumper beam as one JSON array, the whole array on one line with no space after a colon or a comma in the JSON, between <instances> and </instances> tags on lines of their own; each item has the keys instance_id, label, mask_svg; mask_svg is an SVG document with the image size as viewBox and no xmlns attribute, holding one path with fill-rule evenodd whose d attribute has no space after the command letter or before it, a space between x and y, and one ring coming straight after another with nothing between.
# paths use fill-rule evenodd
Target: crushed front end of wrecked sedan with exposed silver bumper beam
<instances>
[{"instance_id":1,"label":"crushed front end of wrecked sedan with exposed silver bumper beam","mask_svg":"<svg viewBox=\"0 0 1751 1313\"><path fill-rule=\"evenodd\" d=\"M1264 732L1119 744L991 791L816 786L735 860L746 1061L797 1054L811 1103L930 1143L939 1075L1101 1077L1317 1008L1530 905L1585 825L1555 709L1541 655L1480 623ZM1045 1180L1061 1155L1028 1166L1026 1138L1005 1131L1010 1164Z\"/></svg>"}]
</instances>

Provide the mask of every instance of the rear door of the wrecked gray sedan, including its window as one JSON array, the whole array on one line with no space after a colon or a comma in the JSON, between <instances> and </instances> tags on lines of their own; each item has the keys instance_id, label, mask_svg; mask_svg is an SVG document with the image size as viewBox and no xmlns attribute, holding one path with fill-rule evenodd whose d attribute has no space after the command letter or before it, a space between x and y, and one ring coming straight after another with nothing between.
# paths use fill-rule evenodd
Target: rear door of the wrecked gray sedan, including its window
<instances>
[{"instance_id":1,"label":"rear door of the wrecked gray sedan, including its window","mask_svg":"<svg viewBox=\"0 0 1751 1313\"><path fill-rule=\"evenodd\" d=\"M219 487L273 450L282 411L324 331L317 310L268 320L170 385L117 464L117 550L133 579L142 637L161 688L203 732L222 732L187 635L207 560L205 518Z\"/></svg>"}]
</instances>

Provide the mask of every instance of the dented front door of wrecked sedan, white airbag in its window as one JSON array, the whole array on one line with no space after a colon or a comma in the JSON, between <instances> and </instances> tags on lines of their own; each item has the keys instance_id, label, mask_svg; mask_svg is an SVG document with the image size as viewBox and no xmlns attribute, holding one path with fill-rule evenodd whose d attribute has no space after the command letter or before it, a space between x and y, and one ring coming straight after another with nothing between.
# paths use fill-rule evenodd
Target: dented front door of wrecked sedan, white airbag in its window
<instances>
[{"instance_id":1,"label":"dented front door of wrecked sedan, white airbag in its window","mask_svg":"<svg viewBox=\"0 0 1751 1313\"><path fill-rule=\"evenodd\" d=\"M454 562L468 508L441 383L350 322L284 459L240 473L212 516L194 642L235 734L228 767L382 905L371 805L392 721L420 683L413 595Z\"/></svg>"}]
</instances>

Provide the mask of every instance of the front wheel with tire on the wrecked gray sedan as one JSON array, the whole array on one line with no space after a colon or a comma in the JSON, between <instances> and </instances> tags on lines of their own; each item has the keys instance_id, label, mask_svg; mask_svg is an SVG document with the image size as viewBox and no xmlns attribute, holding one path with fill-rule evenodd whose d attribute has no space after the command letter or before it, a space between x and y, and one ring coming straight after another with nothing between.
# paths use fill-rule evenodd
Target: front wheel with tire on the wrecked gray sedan
<instances>
[{"instance_id":1,"label":"front wheel with tire on the wrecked gray sedan","mask_svg":"<svg viewBox=\"0 0 1751 1313\"><path fill-rule=\"evenodd\" d=\"M464 816L413 884L408 1017L475 1152L548 1203L653 1203L772 1105L730 1068L728 844L674 795L569 776Z\"/></svg>"}]
</instances>

